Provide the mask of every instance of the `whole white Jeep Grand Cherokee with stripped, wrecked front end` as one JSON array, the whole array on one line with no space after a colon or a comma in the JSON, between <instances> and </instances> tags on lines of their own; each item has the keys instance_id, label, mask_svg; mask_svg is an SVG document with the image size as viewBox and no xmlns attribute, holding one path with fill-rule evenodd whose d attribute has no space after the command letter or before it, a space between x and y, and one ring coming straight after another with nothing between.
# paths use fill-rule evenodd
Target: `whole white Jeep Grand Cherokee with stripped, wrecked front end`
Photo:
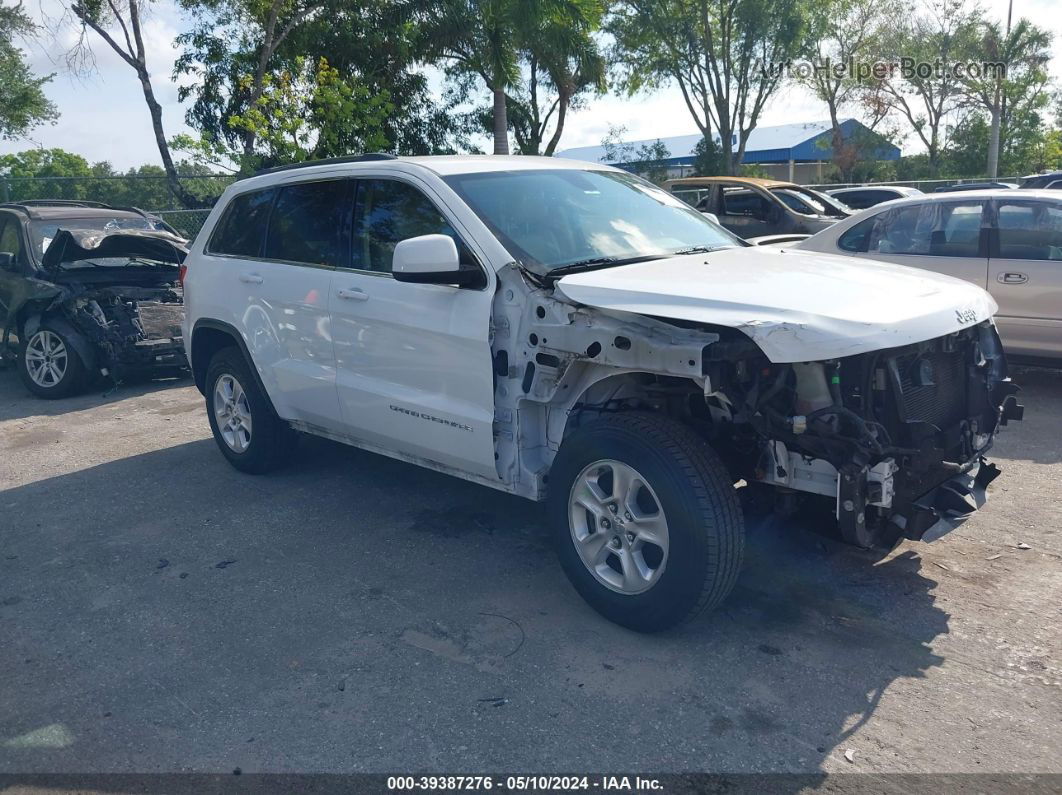
<instances>
[{"instance_id":1,"label":"whole white Jeep Grand Cherokee with stripped, wrecked front end","mask_svg":"<svg viewBox=\"0 0 1062 795\"><path fill-rule=\"evenodd\" d=\"M654 630L718 604L739 494L869 547L983 501L1020 418L981 289L747 246L623 171L369 155L225 191L186 261L221 452L312 433L548 500L579 592ZM736 486L742 486L737 488Z\"/></svg>"}]
</instances>

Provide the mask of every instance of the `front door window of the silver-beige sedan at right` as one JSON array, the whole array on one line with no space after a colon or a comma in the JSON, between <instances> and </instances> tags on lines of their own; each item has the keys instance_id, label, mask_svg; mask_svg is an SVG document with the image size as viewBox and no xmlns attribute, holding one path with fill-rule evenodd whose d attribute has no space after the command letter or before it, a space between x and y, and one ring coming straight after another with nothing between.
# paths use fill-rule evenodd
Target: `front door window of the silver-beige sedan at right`
<instances>
[{"instance_id":1,"label":"front door window of the silver-beige sedan at right","mask_svg":"<svg viewBox=\"0 0 1062 795\"><path fill-rule=\"evenodd\" d=\"M879 215L867 250L929 257L976 257L981 202L926 202Z\"/></svg>"}]
</instances>

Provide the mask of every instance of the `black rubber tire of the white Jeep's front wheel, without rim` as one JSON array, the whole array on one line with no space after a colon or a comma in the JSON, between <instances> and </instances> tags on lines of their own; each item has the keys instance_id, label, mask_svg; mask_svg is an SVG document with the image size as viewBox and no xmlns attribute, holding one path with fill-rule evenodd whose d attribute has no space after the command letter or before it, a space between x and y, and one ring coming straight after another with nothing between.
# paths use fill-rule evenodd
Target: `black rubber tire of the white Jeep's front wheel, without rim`
<instances>
[{"instance_id":1,"label":"black rubber tire of the white Jeep's front wheel, without rim","mask_svg":"<svg viewBox=\"0 0 1062 795\"><path fill-rule=\"evenodd\" d=\"M621 593L602 584L577 550L569 497L584 469L602 460L635 468L666 517L667 557L654 584L643 592ZM610 621L637 632L661 632L717 606L737 582L744 525L734 484L716 453L681 422L641 412L588 422L561 446L549 473L548 499L565 573Z\"/></svg>"}]
</instances>

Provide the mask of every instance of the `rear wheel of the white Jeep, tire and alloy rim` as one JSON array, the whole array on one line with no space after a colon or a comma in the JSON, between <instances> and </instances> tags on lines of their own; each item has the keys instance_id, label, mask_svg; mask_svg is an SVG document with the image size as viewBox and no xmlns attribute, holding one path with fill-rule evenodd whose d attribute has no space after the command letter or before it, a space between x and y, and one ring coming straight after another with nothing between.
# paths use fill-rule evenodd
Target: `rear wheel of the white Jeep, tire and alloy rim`
<instances>
[{"instance_id":1,"label":"rear wheel of the white Jeep, tire and alloy rim","mask_svg":"<svg viewBox=\"0 0 1062 795\"><path fill-rule=\"evenodd\" d=\"M224 348L210 360L206 410L213 439L234 467L261 474L285 464L295 433L273 411L239 349Z\"/></svg>"}]
</instances>

